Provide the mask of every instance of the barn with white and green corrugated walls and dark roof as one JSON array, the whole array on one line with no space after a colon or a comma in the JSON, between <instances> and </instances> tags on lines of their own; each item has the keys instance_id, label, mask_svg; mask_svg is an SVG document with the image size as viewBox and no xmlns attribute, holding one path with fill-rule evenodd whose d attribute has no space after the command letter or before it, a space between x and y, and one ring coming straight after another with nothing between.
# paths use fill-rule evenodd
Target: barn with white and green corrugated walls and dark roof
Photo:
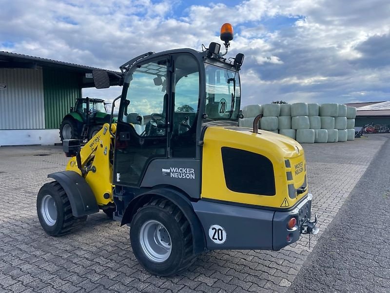
<instances>
[{"instance_id":1,"label":"barn with white and green corrugated walls and dark roof","mask_svg":"<svg viewBox=\"0 0 390 293\"><path fill-rule=\"evenodd\" d=\"M0 146L59 143L62 117L94 86L94 69L0 51ZM107 72L118 85L118 72Z\"/></svg>"}]
</instances>

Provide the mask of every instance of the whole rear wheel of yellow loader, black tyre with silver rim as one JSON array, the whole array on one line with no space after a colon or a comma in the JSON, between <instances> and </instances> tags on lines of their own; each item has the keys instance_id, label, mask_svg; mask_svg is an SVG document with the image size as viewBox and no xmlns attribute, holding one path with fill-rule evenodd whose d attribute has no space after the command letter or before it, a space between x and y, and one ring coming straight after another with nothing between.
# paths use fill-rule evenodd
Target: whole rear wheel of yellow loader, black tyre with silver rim
<instances>
[{"instance_id":1,"label":"whole rear wheel of yellow loader, black tyre with silver rim","mask_svg":"<svg viewBox=\"0 0 390 293\"><path fill-rule=\"evenodd\" d=\"M159 276L177 274L195 261L190 224L167 199L153 198L137 210L130 242L139 263Z\"/></svg>"}]
</instances>

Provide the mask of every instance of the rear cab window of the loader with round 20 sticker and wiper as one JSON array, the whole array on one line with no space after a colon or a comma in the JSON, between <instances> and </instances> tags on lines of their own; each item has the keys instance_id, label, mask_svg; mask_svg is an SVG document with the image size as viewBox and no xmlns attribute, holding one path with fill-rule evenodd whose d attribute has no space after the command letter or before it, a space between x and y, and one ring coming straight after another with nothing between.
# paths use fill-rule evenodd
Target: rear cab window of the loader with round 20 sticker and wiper
<instances>
[{"instance_id":1,"label":"rear cab window of the loader with round 20 sticker and wiper","mask_svg":"<svg viewBox=\"0 0 390 293\"><path fill-rule=\"evenodd\" d=\"M240 111L240 80L236 71L205 64L206 68L206 106L209 121L238 121Z\"/></svg>"}]
</instances>

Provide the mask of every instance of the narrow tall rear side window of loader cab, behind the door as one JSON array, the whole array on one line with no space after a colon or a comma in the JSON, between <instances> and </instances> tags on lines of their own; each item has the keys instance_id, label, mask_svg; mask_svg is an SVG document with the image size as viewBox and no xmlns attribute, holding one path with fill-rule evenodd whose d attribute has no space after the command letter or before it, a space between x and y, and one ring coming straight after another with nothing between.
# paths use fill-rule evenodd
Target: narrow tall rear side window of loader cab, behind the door
<instances>
[{"instance_id":1,"label":"narrow tall rear side window of loader cab, behind the door","mask_svg":"<svg viewBox=\"0 0 390 293\"><path fill-rule=\"evenodd\" d=\"M176 55L174 64L172 155L193 158L199 112L199 67L190 54Z\"/></svg>"}]
</instances>

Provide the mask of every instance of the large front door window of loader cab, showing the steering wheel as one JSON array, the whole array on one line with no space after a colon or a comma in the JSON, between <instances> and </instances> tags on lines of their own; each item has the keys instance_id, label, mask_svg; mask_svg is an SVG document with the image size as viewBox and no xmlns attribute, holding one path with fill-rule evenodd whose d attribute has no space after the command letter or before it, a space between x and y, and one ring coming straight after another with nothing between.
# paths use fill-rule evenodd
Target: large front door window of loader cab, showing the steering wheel
<instances>
[{"instance_id":1,"label":"large front door window of loader cab, showing the steering wheel","mask_svg":"<svg viewBox=\"0 0 390 293\"><path fill-rule=\"evenodd\" d=\"M167 60L145 63L133 72L127 91L123 122L132 124L140 136L162 136L167 114Z\"/></svg>"}]
</instances>

